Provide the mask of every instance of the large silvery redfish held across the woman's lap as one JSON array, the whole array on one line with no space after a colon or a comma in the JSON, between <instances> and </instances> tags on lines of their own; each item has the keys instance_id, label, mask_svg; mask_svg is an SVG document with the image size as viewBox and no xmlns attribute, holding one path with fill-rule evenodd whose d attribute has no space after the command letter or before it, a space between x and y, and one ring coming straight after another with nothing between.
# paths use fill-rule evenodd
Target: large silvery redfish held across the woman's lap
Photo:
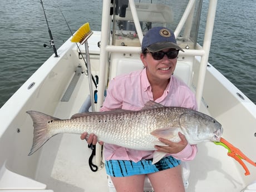
<instances>
[{"instance_id":1,"label":"large silvery redfish held across the woman's lap","mask_svg":"<svg viewBox=\"0 0 256 192\"><path fill-rule=\"evenodd\" d=\"M179 142L178 132L185 135L190 145L220 141L223 133L219 122L208 115L183 107L165 107L153 101L147 102L140 111L85 112L65 120L37 111L27 113L34 126L33 145L28 155L61 133L93 133L100 141L136 150L155 150L155 145L161 145L159 137ZM153 162L164 155L155 151Z\"/></svg>"}]
</instances>

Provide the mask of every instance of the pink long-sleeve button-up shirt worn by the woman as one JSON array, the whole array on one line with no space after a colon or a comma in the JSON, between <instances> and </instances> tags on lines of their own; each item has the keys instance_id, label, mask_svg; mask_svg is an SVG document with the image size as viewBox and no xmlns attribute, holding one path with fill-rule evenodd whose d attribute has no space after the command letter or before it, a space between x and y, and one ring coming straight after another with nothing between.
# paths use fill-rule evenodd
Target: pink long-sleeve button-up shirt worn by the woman
<instances>
[{"instance_id":1,"label":"pink long-sleeve button-up shirt worn by the woman","mask_svg":"<svg viewBox=\"0 0 256 192\"><path fill-rule=\"evenodd\" d=\"M144 69L127 75L117 76L111 80L101 111L113 109L138 111L144 107L147 101L154 101L154 99L149 80L147 79L146 69ZM174 76L171 76L163 95L156 99L155 102L164 106L197 109L194 93L183 81ZM188 144L182 151L167 155L188 161L194 159L196 151L196 145ZM137 162L142 159L151 159L153 152L128 149L112 144L104 145L105 160L132 160Z\"/></svg>"}]
</instances>

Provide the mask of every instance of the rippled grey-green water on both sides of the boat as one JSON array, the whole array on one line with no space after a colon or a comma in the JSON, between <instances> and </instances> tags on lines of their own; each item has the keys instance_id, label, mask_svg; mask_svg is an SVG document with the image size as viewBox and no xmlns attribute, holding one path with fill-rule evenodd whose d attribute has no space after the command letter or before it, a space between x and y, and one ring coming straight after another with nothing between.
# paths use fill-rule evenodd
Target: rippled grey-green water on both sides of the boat
<instances>
[{"instance_id":1,"label":"rippled grey-green water on both sides of the boat","mask_svg":"<svg viewBox=\"0 0 256 192\"><path fill-rule=\"evenodd\" d=\"M101 0L43 0L56 48L85 22L101 30ZM0 0L0 107L47 60L52 48L40 0ZM203 3L202 16L208 1ZM61 13L62 11L62 13ZM200 23L204 27L204 23ZM256 1L218 2L209 62L256 103ZM200 41L199 37L199 41ZM201 40L202 41L202 40Z\"/></svg>"}]
</instances>

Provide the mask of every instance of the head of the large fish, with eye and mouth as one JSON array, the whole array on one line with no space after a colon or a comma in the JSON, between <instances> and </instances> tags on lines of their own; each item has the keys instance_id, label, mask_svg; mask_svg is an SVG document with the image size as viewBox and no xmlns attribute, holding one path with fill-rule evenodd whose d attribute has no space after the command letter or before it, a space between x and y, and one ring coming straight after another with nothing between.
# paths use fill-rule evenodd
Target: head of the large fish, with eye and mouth
<instances>
[{"instance_id":1,"label":"head of the large fish, with eye and mouth","mask_svg":"<svg viewBox=\"0 0 256 192\"><path fill-rule=\"evenodd\" d=\"M189 144L218 142L223 134L223 127L218 121L198 111L181 114L179 124Z\"/></svg>"}]
</instances>

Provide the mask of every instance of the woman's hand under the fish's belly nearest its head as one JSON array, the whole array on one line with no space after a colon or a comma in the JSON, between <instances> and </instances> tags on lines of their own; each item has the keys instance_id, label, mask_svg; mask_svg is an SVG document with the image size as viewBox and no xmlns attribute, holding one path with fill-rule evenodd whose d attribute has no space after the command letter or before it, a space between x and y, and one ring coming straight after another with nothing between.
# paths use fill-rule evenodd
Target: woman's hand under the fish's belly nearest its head
<instances>
[{"instance_id":1,"label":"woman's hand under the fish's belly nearest its head","mask_svg":"<svg viewBox=\"0 0 256 192\"><path fill-rule=\"evenodd\" d=\"M168 139L159 138L159 141L163 142L168 146L156 145L156 151L165 152L167 154L176 154L182 151L186 147L186 145L188 145L188 141L186 140L186 137L183 134L181 134L181 132L179 132L179 137L181 139L180 142L172 142Z\"/></svg>"}]
</instances>

